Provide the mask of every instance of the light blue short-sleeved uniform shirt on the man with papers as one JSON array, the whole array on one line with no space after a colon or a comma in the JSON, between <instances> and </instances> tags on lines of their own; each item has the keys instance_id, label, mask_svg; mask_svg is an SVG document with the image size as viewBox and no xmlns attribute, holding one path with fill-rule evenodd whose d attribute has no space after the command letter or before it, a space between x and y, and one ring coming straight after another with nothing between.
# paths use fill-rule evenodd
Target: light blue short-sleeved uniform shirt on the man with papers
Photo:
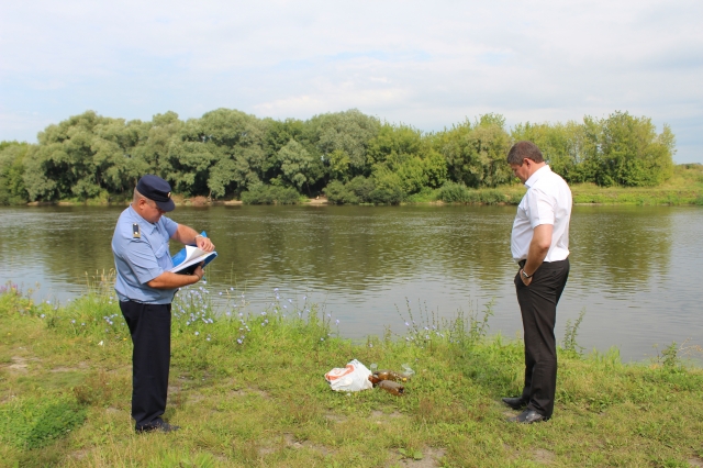
<instances>
[{"instance_id":1,"label":"light blue short-sleeved uniform shirt on the man with papers","mask_svg":"<svg viewBox=\"0 0 703 468\"><path fill-rule=\"evenodd\" d=\"M134 236L133 224L140 226ZM120 301L146 304L168 304L176 289L154 289L146 283L174 267L168 239L176 234L178 223L161 216L149 223L134 211L132 205L122 212L112 236L112 253L118 279L114 290Z\"/></svg>"}]
</instances>

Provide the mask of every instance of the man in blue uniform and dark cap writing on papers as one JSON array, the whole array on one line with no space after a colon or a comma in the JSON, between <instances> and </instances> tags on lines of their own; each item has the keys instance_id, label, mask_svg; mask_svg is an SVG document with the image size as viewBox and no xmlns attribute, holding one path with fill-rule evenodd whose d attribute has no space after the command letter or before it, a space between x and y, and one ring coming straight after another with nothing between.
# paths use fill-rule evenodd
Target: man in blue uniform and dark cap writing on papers
<instances>
[{"instance_id":1,"label":"man in blue uniform and dark cap writing on papers","mask_svg":"<svg viewBox=\"0 0 703 468\"><path fill-rule=\"evenodd\" d=\"M171 301L178 288L193 285L204 275L201 267L192 275L168 271L174 267L168 241L214 250L208 237L164 216L175 208L168 182L157 176L144 176L112 236L118 270L114 289L134 345L132 417L136 432L178 430L161 419L170 366Z\"/></svg>"}]
</instances>

